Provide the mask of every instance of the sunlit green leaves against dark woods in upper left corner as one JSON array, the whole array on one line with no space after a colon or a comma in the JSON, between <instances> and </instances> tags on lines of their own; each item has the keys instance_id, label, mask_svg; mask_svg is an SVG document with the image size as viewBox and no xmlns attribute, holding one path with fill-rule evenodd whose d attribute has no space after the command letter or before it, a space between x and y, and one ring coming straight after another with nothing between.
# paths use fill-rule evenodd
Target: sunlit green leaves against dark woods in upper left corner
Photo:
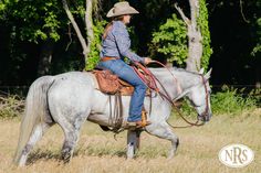
<instances>
[{"instance_id":1,"label":"sunlit green leaves against dark woods in upper left corner","mask_svg":"<svg viewBox=\"0 0 261 173\"><path fill-rule=\"evenodd\" d=\"M12 26L12 34L21 41L58 41L63 10L60 6L54 0L4 0L0 2L0 20L7 21Z\"/></svg>"}]
</instances>

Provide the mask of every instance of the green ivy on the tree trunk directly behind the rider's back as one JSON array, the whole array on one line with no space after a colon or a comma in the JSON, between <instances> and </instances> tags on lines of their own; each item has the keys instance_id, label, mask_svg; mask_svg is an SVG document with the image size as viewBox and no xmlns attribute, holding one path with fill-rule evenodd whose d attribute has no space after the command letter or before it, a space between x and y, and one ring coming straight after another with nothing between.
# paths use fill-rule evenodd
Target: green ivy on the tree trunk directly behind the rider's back
<instances>
[{"instance_id":1,"label":"green ivy on the tree trunk directly behind the rider's back","mask_svg":"<svg viewBox=\"0 0 261 173\"><path fill-rule=\"evenodd\" d=\"M87 55L87 62L85 65L86 71L93 69L100 61L102 34L104 31L104 26L106 25L107 22L106 21L96 21L95 23L96 24L93 25L94 40L92 42L91 52Z\"/></svg>"}]
</instances>

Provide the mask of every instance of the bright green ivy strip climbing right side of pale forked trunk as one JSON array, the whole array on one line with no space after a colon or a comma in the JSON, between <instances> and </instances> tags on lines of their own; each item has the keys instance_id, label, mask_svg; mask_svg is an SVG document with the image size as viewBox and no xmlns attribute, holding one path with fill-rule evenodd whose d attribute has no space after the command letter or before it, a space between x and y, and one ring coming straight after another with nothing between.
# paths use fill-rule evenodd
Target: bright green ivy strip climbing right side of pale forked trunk
<instances>
[{"instance_id":1,"label":"bright green ivy strip climbing right side of pale forked trunk","mask_svg":"<svg viewBox=\"0 0 261 173\"><path fill-rule=\"evenodd\" d=\"M213 53L212 48L210 47L210 32L208 26L208 9L206 6L206 0L199 1L200 10L199 17L197 19L198 26L200 28L201 35L202 35L202 57L201 57L201 67L205 69L208 68L209 60L211 54Z\"/></svg>"}]
</instances>

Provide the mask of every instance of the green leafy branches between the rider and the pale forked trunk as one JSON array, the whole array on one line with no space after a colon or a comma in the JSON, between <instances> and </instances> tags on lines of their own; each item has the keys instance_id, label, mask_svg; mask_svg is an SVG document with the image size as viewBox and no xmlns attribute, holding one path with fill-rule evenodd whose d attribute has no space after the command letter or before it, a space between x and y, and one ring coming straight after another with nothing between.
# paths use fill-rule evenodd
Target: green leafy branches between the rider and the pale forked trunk
<instances>
[{"instance_id":1,"label":"green leafy branches between the rider and the pale forked trunk","mask_svg":"<svg viewBox=\"0 0 261 173\"><path fill-rule=\"evenodd\" d=\"M177 64L182 65L188 54L185 22L173 14L171 19L159 26L159 31L153 33L150 50L166 55L168 62L177 62Z\"/></svg>"}]
</instances>

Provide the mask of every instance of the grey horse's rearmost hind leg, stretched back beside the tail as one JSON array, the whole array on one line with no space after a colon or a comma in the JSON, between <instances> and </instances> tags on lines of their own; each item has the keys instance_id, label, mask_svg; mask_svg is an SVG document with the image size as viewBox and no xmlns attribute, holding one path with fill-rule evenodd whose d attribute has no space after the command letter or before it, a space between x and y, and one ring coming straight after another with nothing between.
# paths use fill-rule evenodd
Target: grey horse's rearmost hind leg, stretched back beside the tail
<instances>
[{"instance_id":1,"label":"grey horse's rearmost hind leg, stretched back beside the tail","mask_svg":"<svg viewBox=\"0 0 261 173\"><path fill-rule=\"evenodd\" d=\"M50 123L39 123L35 126L34 130L32 131L32 134L25 144L25 147L22 150L22 154L19 159L18 165L22 166L25 165L28 155L30 151L33 149L35 143L43 137L44 132L51 127Z\"/></svg>"}]
</instances>

